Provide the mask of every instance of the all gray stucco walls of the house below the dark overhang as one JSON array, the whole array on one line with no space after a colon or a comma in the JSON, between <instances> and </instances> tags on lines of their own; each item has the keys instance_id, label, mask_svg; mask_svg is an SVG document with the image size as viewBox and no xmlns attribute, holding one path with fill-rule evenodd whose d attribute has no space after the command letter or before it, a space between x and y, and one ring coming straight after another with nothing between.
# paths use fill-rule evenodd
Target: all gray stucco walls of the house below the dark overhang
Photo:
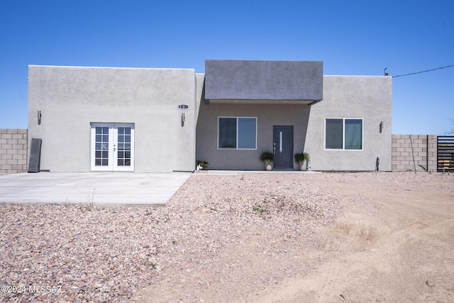
<instances>
[{"instance_id":1,"label":"all gray stucco walls of the house below the dark overhang","mask_svg":"<svg viewBox=\"0 0 454 303\"><path fill-rule=\"evenodd\" d=\"M135 171L192 171L196 156L209 168L262 169L272 125L294 125L294 152L309 152L314 171L372 171L377 156L392 169L391 77L323 76L323 101L311 106L205 104L203 88L193 69L30 66L28 142L43 139L41 170L86 172L91 123L134 123ZM257 149L218 150L218 116L257 117ZM362 118L362 151L325 149L326 118Z\"/></svg>"}]
</instances>

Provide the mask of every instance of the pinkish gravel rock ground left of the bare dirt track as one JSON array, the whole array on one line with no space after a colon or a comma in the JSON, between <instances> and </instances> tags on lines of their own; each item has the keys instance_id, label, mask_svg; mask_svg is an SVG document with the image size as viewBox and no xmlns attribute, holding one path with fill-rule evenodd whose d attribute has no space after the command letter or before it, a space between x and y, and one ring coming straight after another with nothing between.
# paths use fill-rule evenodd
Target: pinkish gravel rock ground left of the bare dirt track
<instances>
[{"instance_id":1,"label":"pinkish gravel rock ground left of the bare dirt track","mask_svg":"<svg viewBox=\"0 0 454 303\"><path fill-rule=\"evenodd\" d=\"M343 212L346 198L331 185L423 187L428 178L453 181L441 173L194 173L165 207L0 205L0 301L236 300L336 254L316 233ZM159 295L144 297L150 287Z\"/></svg>"}]
</instances>

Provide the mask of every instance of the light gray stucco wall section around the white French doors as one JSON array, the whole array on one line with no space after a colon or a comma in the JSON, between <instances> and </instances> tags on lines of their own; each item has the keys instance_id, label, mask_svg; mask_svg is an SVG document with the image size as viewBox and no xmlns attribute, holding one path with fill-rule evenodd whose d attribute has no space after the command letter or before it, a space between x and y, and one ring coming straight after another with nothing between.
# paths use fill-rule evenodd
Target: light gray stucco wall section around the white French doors
<instances>
[{"instance_id":1,"label":"light gray stucco wall section around the white French doors","mask_svg":"<svg viewBox=\"0 0 454 303\"><path fill-rule=\"evenodd\" d=\"M194 69L30 66L28 74L28 140L43 139L41 170L90 171L92 122L134 123L137 172L194 170Z\"/></svg>"}]
</instances>

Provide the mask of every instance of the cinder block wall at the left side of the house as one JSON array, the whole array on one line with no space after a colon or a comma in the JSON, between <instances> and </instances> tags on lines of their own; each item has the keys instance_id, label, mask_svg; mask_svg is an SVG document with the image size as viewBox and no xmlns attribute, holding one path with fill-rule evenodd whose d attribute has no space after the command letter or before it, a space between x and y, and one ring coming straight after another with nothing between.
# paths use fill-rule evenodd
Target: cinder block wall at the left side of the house
<instances>
[{"instance_id":1,"label":"cinder block wall at the left side of the house","mask_svg":"<svg viewBox=\"0 0 454 303\"><path fill-rule=\"evenodd\" d=\"M0 129L0 173L27 171L27 130Z\"/></svg>"}]
</instances>

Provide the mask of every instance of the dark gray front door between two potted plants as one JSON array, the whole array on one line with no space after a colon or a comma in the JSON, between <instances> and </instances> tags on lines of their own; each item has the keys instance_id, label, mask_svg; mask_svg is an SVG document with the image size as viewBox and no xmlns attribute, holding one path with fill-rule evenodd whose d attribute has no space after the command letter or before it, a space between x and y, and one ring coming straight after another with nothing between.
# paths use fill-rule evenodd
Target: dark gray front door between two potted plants
<instances>
[{"instance_id":1,"label":"dark gray front door between two potted plants","mask_svg":"<svg viewBox=\"0 0 454 303\"><path fill-rule=\"evenodd\" d=\"M275 169L293 169L293 126L273 127Z\"/></svg>"}]
</instances>

